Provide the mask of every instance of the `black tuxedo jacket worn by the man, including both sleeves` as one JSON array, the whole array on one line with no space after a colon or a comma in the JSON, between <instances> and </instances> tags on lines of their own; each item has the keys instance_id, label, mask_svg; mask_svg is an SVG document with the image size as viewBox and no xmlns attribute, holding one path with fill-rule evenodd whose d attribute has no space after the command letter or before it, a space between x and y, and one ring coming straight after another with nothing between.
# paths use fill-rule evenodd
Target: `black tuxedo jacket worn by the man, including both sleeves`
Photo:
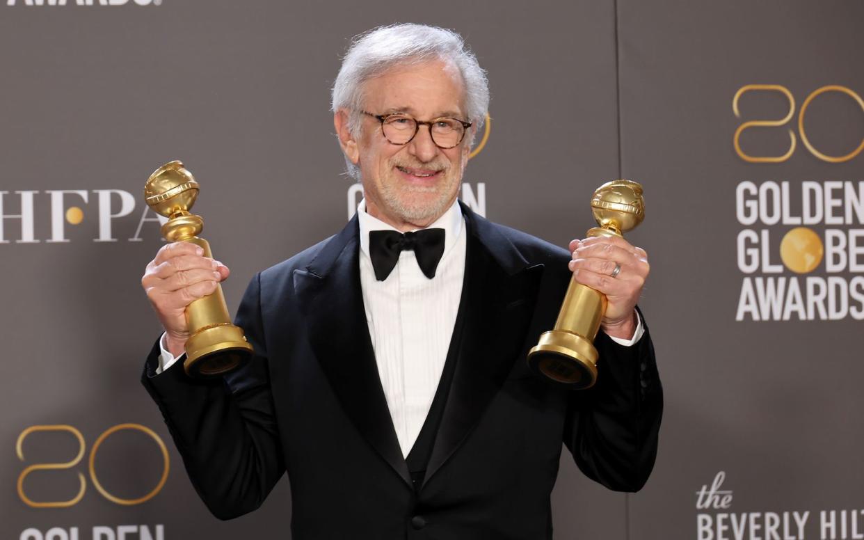
<instances>
[{"instance_id":1,"label":"black tuxedo jacket worn by the man, including both sleeves","mask_svg":"<svg viewBox=\"0 0 864 540\"><path fill-rule=\"evenodd\" d=\"M643 486L663 406L647 330L632 347L600 332L590 390L537 378L525 355L555 323L569 253L462 211L454 374L422 486L378 379L356 217L252 279L237 315L255 346L249 365L216 380L187 378L180 362L155 375L154 346L143 384L214 515L256 509L287 471L295 540L551 538L562 442L590 478Z\"/></svg>"}]
</instances>

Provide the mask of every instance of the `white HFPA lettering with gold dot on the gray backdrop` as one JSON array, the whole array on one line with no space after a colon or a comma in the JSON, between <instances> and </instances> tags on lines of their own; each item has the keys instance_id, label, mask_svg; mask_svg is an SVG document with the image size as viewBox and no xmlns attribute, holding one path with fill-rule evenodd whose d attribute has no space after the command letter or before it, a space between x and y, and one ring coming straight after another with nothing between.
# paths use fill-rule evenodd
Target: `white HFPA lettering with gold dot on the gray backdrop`
<instances>
[{"instance_id":1,"label":"white HFPA lettering with gold dot on the gray backdrop","mask_svg":"<svg viewBox=\"0 0 864 540\"><path fill-rule=\"evenodd\" d=\"M16 200L17 199L17 200ZM17 204L16 204L17 203ZM10 210L9 206L17 207ZM83 208L82 208L83 206ZM41 238L36 238L36 224L48 221L50 216L51 233L45 241L68 242L67 225L77 226L85 220L87 213L95 213L98 232L94 242L117 242L120 236L114 231L116 220L125 218L135 212L135 197L123 189L47 189L45 191L0 191L0 244L9 244L14 232L7 231L6 226L16 222L18 238L12 238L16 244L36 244ZM47 213L46 213L47 211ZM134 219L134 218L133 218ZM123 223L131 225L129 219ZM149 206L144 206L141 218L137 219L135 233L126 238L130 242L141 242L141 230L146 222L154 225L168 221L167 218L153 213ZM131 227L124 236L131 232Z\"/></svg>"}]
</instances>

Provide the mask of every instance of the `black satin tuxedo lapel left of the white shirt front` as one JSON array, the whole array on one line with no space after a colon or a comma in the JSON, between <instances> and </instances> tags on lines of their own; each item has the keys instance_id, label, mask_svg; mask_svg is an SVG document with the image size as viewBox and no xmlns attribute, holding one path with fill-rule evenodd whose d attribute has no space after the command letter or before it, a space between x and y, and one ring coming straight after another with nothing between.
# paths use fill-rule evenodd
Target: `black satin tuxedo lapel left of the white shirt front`
<instances>
[{"instance_id":1,"label":"black satin tuxedo lapel left of the white shirt front","mask_svg":"<svg viewBox=\"0 0 864 540\"><path fill-rule=\"evenodd\" d=\"M366 323L358 235L355 215L306 270L295 270L295 290L309 342L346 415L410 486Z\"/></svg>"}]
</instances>

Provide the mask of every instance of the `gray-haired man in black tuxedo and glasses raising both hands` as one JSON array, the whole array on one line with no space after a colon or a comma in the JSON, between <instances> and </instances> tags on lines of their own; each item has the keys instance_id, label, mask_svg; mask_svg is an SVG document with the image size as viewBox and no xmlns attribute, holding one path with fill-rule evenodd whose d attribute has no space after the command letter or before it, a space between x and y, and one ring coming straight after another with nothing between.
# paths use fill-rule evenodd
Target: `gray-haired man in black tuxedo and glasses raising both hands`
<instances>
[{"instance_id":1,"label":"gray-haired man in black tuxedo and glasses raising both hands","mask_svg":"<svg viewBox=\"0 0 864 540\"><path fill-rule=\"evenodd\" d=\"M143 384L217 517L256 509L287 471L297 540L535 540L552 535L562 442L605 486L645 483L662 409L635 308L645 251L609 238L565 251L461 205L488 100L453 32L353 41L333 111L364 200L341 232L251 280L237 323L256 356L224 379L187 378L176 360L183 309L228 269L189 244L148 264L165 334ZM589 391L525 364L571 276L609 299Z\"/></svg>"}]
</instances>

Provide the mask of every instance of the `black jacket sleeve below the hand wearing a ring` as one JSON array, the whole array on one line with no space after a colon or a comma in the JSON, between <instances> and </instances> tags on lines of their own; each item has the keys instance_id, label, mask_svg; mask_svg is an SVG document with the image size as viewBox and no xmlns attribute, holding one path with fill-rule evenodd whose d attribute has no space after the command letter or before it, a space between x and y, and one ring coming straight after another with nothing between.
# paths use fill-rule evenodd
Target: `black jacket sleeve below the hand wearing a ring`
<instances>
[{"instance_id":1,"label":"black jacket sleeve below the hand wearing a ring","mask_svg":"<svg viewBox=\"0 0 864 540\"><path fill-rule=\"evenodd\" d=\"M601 330L594 346L597 382L570 397L564 443L589 478L615 491L636 492L654 467L663 416L651 334L645 325L641 340L621 346Z\"/></svg>"}]
</instances>

